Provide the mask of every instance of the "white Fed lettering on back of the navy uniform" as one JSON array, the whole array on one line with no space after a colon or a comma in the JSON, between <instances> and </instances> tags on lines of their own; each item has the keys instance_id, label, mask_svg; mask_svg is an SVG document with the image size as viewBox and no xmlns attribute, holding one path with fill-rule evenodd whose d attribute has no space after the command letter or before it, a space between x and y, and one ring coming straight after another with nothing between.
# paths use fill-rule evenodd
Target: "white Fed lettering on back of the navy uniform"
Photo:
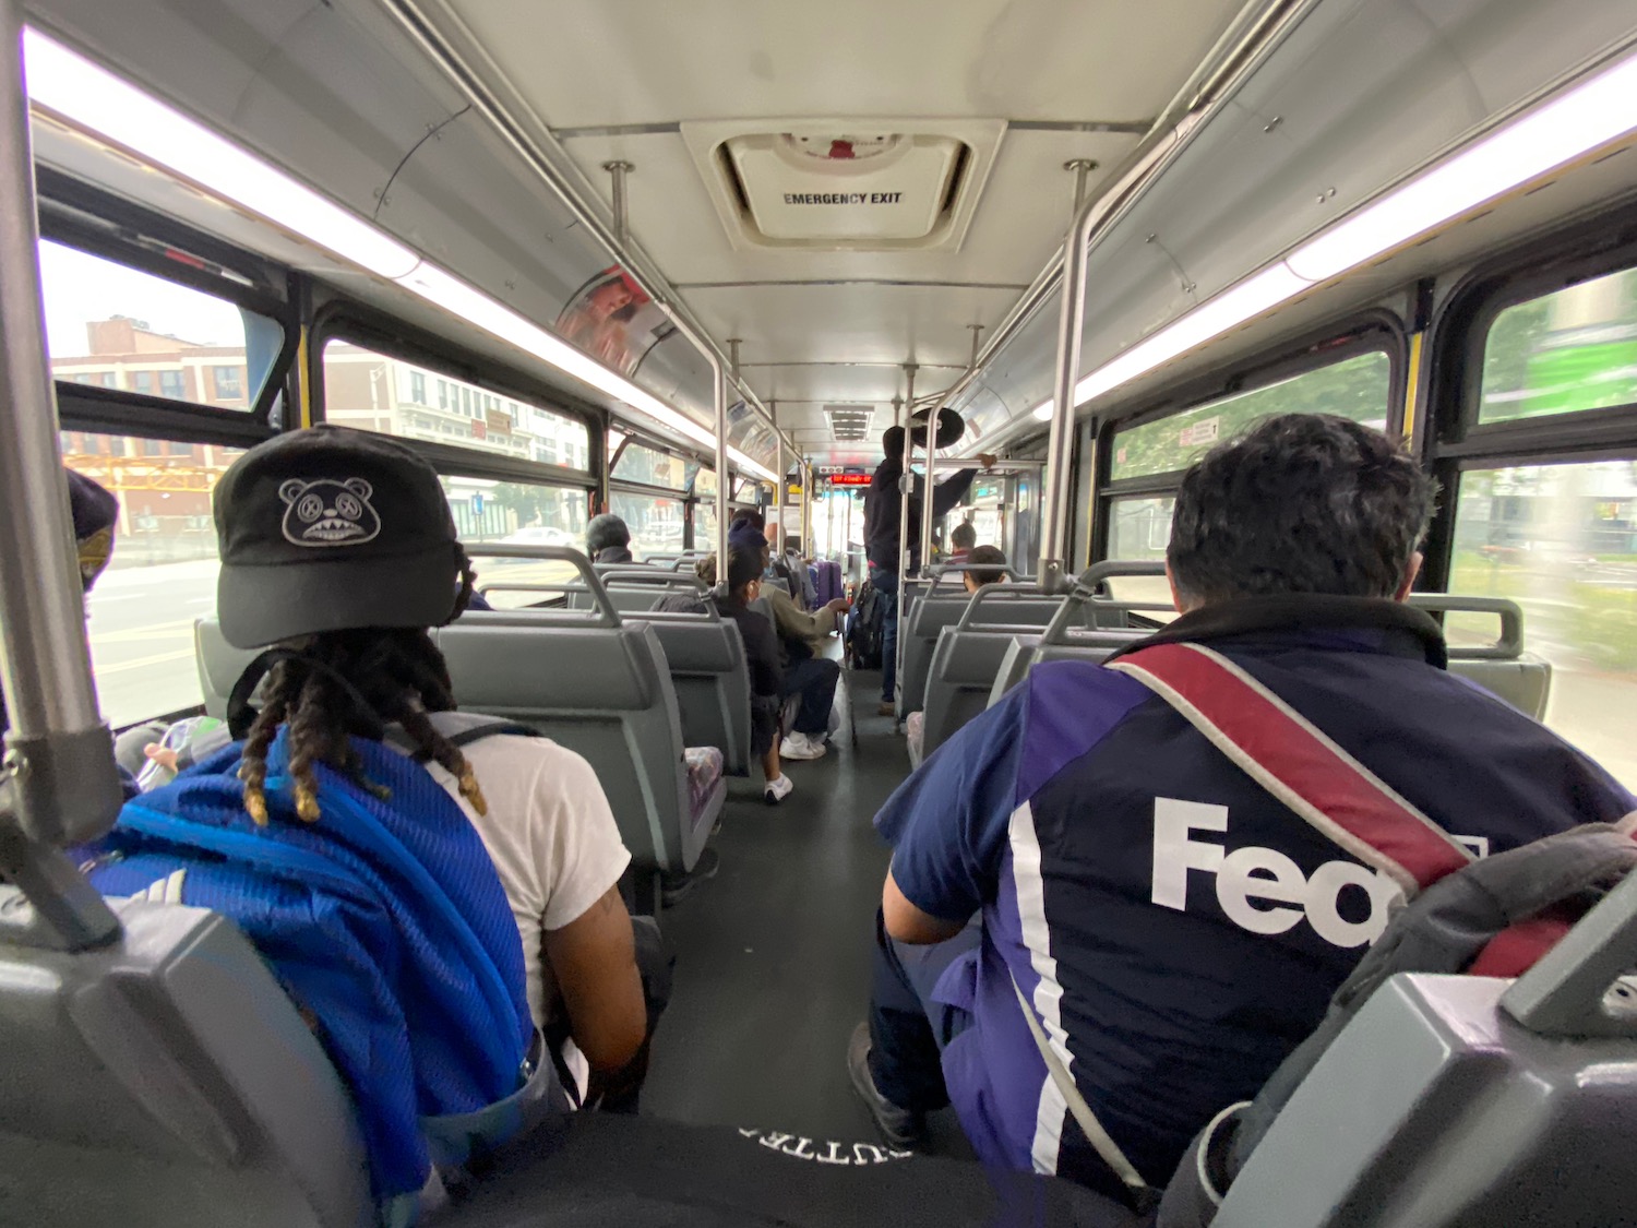
<instances>
[{"instance_id":1,"label":"white Fed lettering on back of the navy uniform","mask_svg":"<svg viewBox=\"0 0 1637 1228\"><path fill-rule=\"evenodd\" d=\"M1326 861L1308 878L1275 848L1247 845L1229 851L1198 838L1205 832L1228 832L1226 806L1154 799L1154 904L1184 912L1188 873L1213 874L1216 902L1239 928L1285 933L1306 919L1324 941L1351 948L1380 938L1393 902L1403 901L1396 883L1357 861ZM1341 896L1347 887L1367 892L1370 910L1364 920L1341 915Z\"/></svg>"}]
</instances>

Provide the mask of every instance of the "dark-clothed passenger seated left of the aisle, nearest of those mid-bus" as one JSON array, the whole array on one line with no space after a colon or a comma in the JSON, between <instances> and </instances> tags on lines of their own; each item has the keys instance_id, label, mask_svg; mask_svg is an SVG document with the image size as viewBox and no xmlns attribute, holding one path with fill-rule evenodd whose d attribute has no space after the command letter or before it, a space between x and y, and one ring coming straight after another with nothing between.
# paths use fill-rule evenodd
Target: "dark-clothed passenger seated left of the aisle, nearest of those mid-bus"
<instances>
[{"instance_id":1,"label":"dark-clothed passenger seated left of the aisle, nearest of those mid-bus","mask_svg":"<svg viewBox=\"0 0 1637 1228\"><path fill-rule=\"evenodd\" d=\"M755 526L740 529L728 535L727 550L727 589L712 593L710 601L724 619L732 619L738 627L738 637L745 643L745 663L750 668L750 753L761 760L761 771L766 778L763 799L768 806L778 806L796 789L796 783L784 774L779 766L779 694L784 688L784 668L779 663L779 637L760 611L750 603L761 596L761 570L766 545ZM715 588L717 565L715 555L706 555L694 568L706 585ZM699 599L688 594L676 594L660 601L655 609L694 611ZM715 873L715 855L710 855L707 874ZM692 878L699 871L694 869Z\"/></svg>"}]
</instances>

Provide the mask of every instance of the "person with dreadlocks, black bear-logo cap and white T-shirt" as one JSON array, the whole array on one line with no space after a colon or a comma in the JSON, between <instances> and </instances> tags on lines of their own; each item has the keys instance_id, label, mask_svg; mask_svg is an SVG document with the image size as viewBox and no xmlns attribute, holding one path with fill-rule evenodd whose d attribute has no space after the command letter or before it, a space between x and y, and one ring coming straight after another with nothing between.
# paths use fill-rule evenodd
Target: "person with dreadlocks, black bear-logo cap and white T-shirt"
<instances>
[{"instance_id":1,"label":"person with dreadlocks, black bear-logo cap and white T-shirt","mask_svg":"<svg viewBox=\"0 0 1637 1228\"><path fill-rule=\"evenodd\" d=\"M270 815L270 770L291 781L291 817L314 822L318 765L357 779L359 743L414 755L489 853L522 943L534 1025L565 1054L588 1104L629 1100L650 1023L617 886L630 855L579 755L509 734L457 747L439 730L437 714L453 712L455 701L427 627L458 617L473 573L435 470L385 436L291 431L234 462L216 486L214 514L223 637L277 648L264 657L262 707L242 750L183 773L144 804L175 804L201 776L236 766L224 768L224 756L242 753L242 804L257 824ZM408 807L403 814L413 822Z\"/></svg>"}]
</instances>

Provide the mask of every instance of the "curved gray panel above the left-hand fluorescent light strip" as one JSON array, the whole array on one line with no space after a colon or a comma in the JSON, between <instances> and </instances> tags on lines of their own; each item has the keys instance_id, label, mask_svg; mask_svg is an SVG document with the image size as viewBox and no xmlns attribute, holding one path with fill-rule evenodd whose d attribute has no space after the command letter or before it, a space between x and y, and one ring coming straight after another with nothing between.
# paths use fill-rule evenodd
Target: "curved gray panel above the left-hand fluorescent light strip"
<instances>
[{"instance_id":1,"label":"curved gray panel above the left-hand fluorescent light strip","mask_svg":"<svg viewBox=\"0 0 1637 1228\"><path fill-rule=\"evenodd\" d=\"M282 23L257 26L241 21L232 3L219 5L208 23L180 21L146 0L116 8L65 0L46 8L47 28L298 178L322 183L339 203L545 327L614 264L534 172L476 115L463 113L463 100L442 70L378 13L311 5L303 7L311 10L304 16L291 10ZM160 11L149 15L149 8ZM165 41L165 31L177 25L241 29L241 38L210 46L208 54L218 61L244 57L246 64L237 72L219 65L223 80L201 72L198 88L192 77L178 80L170 72L177 43ZM183 46L196 39L180 29L175 36ZM329 69L319 72L322 65ZM41 128L36 123L36 131ZM100 160L123 160L95 159L74 144L52 134L43 152L49 159L61 151L65 169L98 180ZM126 190L154 206L174 195L167 177L152 172L128 175ZM201 214L206 226L226 221L219 205ZM244 242L241 226L224 237ZM365 303L417 316L434 329L462 331L439 313L406 308L396 287L303 244L291 247L295 267L334 278ZM634 355L629 373L689 418L710 422L709 365L686 339L661 339L653 352Z\"/></svg>"}]
</instances>

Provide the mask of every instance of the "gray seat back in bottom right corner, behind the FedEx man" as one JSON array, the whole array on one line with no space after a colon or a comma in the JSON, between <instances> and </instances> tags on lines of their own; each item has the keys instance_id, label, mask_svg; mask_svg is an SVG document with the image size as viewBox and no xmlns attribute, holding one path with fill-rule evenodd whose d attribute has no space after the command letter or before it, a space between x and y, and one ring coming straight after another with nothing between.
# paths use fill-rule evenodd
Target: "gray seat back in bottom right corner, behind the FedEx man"
<instances>
[{"instance_id":1,"label":"gray seat back in bottom right corner, behind the FedEx man","mask_svg":"<svg viewBox=\"0 0 1637 1228\"><path fill-rule=\"evenodd\" d=\"M1213 1228L1637 1223L1637 876L1516 981L1401 973L1336 1035Z\"/></svg>"}]
</instances>

